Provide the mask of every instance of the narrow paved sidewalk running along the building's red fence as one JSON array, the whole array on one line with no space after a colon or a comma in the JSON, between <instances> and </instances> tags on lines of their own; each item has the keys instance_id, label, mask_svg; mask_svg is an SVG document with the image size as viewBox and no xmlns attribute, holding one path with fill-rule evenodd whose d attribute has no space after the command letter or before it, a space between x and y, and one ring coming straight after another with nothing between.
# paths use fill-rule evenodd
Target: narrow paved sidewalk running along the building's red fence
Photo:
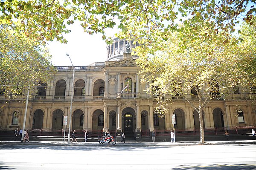
<instances>
[{"instance_id":1,"label":"narrow paved sidewalk running along the building's red fence","mask_svg":"<svg viewBox=\"0 0 256 170\"><path fill-rule=\"evenodd\" d=\"M65 141L30 141L30 142L18 142L18 141L0 141L0 145L48 145L48 146L113 146L113 147L168 147L168 146L190 146L190 145L217 145L217 144L256 144L256 140L244 140L244 141L206 141L201 144L198 141L183 141L183 142L137 142L137 143L116 143L112 144L99 144L98 142L70 142Z\"/></svg>"}]
</instances>

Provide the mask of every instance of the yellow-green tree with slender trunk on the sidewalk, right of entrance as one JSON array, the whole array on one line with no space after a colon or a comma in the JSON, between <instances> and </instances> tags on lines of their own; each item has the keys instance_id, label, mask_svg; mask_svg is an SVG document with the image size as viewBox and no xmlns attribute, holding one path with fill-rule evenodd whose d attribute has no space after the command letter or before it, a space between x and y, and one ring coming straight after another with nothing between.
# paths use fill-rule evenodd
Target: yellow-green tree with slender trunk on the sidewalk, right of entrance
<instances>
[{"instance_id":1,"label":"yellow-green tree with slender trunk on the sidewalk, right of entrance","mask_svg":"<svg viewBox=\"0 0 256 170\"><path fill-rule=\"evenodd\" d=\"M139 47L136 54L140 55L140 74L143 81L153 80L148 91L158 96L159 110L164 114L163 108L171 104L172 96L183 96L199 113L204 142L203 107L212 99L225 99L235 86L250 89L255 85L255 32L253 25L244 23L239 33L241 40L234 43L236 38L228 32L202 27L198 37L187 42L180 38L186 33L169 32L168 40L158 40L160 50L153 55ZM204 35L211 38L202 41Z\"/></svg>"}]
</instances>

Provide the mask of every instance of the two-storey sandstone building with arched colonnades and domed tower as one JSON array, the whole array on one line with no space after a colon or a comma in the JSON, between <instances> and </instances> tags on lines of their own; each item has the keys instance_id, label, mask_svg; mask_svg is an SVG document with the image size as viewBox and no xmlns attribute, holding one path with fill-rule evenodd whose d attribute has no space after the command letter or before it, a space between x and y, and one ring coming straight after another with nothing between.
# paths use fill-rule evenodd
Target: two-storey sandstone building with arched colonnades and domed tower
<instances>
[{"instance_id":1,"label":"two-storey sandstone building with arched colonnades and domed tower","mask_svg":"<svg viewBox=\"0 0 256 170\"><path fill-rule=\"evenodd\" d=\"M73 93L72 130L112 130L124 131L140 140L145 130L171 130L172 114L176 116L175 129L199 128L198 113L180 96L169 96L172 105L169 114L163 118L154 111L156 101L145 89L149 83L140 83L140 68L136 56L131 56L125 40L115 39L108 46L105 62L90 66L75 66L74 90L72 90L73 67L56 66L58 72L48 84L38 86L38 92L29 99L26 128L63 129L63 116L70 114L70 99ZM130 42L131 49L134 45ZM136 45L135 45L136 46ZM121 90L127 86L124 92ZM241 93L237 86L225 98L217 96L203 108L205 127L237 127L256 125L256 106L248 95L256 95L254 89ZM25 103L22 96L5 103L0 96L0 128L23 126ZM189 96L196 104L197 96ZM239 113L237 111L240 111ZM69 122L69 121L68 121Z\"/></svg>"}]
</instances>

